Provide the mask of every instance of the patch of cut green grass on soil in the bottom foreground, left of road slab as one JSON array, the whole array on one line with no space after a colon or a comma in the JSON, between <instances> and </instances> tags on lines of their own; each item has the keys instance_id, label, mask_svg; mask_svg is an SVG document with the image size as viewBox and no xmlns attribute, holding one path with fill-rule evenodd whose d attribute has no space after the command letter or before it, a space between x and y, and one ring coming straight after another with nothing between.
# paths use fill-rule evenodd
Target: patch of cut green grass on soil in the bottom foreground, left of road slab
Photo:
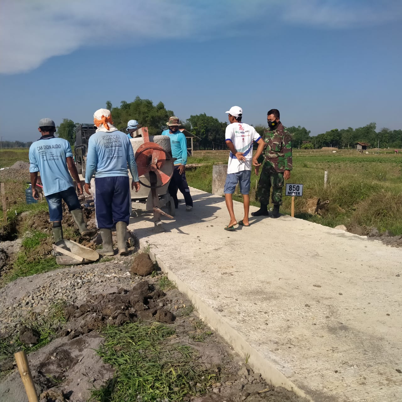
<instances>
[{"instance_id":1,"label":"patch of cut green grass on soil in the bottom foreground, left of road slab","mask_svg":"<svg viewBox=\"0 0 402 402\"><path fill-rule=\"evenodd\" d=\"M195 349L173 342L173 328L137 322L108 326L104 333L98 354L116 373L106 387L92 392L92 401L181 401L218 380Z\"/></svg>"}]
</instances>

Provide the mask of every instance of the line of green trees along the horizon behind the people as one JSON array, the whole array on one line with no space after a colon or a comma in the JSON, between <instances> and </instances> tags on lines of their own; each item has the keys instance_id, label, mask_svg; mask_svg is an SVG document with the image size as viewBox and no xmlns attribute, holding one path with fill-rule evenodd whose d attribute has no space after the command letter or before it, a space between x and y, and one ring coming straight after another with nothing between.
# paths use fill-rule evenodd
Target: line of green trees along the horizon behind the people
<instances>
[{"instance_id":1,"label":"line of green trees along the horizon behind the people","mask_svg":"<svg viewBox=\"0 0 402 402\"><path fill-rule=\"evenodd\" d=\"M158 135L165 130L166 122L170 116L175 115L172 110L165 108L164 103L156 105L149 99L142 99L137 96L133 102L121 101L119 107L113 107L108 100L106 109L112 113L114 125L125 132L127 122L135 119L140 125L148 127L150 135ZM180 117L180 116L178 116ZM182 120L185 129L196 135L194 138L197 149L226 149L225 129L227 123L219 121L215 117L207 116L205 113L191 115L188 119ZM89 122L80 122L89 123ZM90 122L91 124L92 122ZM71 145L75 142L75 128L78 123L71 119L63 119L57 126L56 135L67 139ZM256 125L255 129L262 134L266 126ZM402 130L390 130L381 128L376 131L376 124L369 123L356 129L331 129L316 136L310 135L306 127L291 126L287 130L292 135L293 148L318 149L322 147L353 148L357 142L369 143L371 148L402 148ZM32 142L3 141L3 148L29 147Z\"/></svg>"}]
</instances>

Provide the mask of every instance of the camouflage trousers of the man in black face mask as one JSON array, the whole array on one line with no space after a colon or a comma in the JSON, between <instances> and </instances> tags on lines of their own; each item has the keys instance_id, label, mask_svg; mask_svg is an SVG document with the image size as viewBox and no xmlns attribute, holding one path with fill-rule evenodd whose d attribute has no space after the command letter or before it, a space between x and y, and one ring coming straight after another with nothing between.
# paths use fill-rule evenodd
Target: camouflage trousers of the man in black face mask
<instances>
[{"instance_id":1,"label":"camouflage trousers of the man in black face mask","mask_svg":"<svg viewBox=\"0 0 402 402\"><path fill-rule=\"evenodd\" d=\"M260 180L256 192L256 200L262 204L269 204L269 193L271 193L272 203L282 205L283 172L276 172L275 169L264 163L261 168Z\"/></svg>"}]
</instances>

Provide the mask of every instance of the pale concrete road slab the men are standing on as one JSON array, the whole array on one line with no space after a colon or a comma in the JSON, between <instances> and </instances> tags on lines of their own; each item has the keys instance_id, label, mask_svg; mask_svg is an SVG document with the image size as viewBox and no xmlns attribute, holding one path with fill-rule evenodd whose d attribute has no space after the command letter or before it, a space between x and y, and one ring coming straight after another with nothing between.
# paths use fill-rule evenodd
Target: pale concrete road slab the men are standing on
<instances>
[{"instance_id":1,"label":"pale concrete road slab the men are standing on","mask_svg":"<svg viewBox=\"0 0 402 402\"><path fill-rule=\"evenodd\" d=\"M224 198L191 194L166 232L129 228L256 371L314 401L402 400L402 249L289 216L227 232Z\"/></svg>"}]
</instances>

